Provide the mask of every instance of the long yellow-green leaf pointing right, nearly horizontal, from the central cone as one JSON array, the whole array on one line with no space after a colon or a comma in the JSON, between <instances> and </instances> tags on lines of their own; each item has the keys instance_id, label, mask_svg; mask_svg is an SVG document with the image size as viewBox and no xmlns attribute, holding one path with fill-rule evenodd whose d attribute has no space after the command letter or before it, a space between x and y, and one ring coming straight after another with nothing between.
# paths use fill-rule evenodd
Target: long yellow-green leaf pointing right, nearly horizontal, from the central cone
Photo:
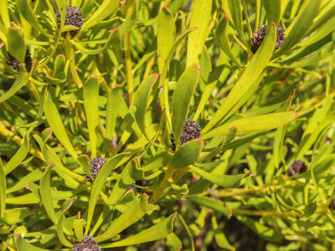
<instances>
[{"instance_id":1,"label":"long yellow-green leaf pointing right, nearly horizontal, from the central cone","mask_svg":"<svg viewBox=\"0 0 335 251\"><path fill-rule=\"evenodd\" d=\"M237 128L237 134L241 135L246 132L258 132L262 130L272 130L289 123L297 117L296 112L277 112L274 114L265 114L260 116L253 116L250 118L238 119L223 126L218 126L205 135L202 139L209 139L218 135L223 135L229 131L232 126Z\"/></svg>"}]
</instances>

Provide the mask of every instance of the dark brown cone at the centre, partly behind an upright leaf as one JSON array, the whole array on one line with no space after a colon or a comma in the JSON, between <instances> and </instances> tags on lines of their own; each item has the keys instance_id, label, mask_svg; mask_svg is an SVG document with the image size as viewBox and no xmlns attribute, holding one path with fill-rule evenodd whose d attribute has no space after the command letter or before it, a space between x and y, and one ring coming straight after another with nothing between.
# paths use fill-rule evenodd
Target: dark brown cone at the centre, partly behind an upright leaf
<instances>
[{"instance_id":1,"label":"dark brown cone at the centre, partly behind an upright leaf","mask_svg":"<svg viewBox=\"0 0 335 251\"><path fill-rule=\"evenodd\" d=\"M185 144L186 142L189 142L190 140L198 139L199 137L201 137L200 132L201 132L201 127L197 122L193 121L192 119L186 119L184 123L183 131L181 132L179 146L182 146L183 144ZM170 146L172 147L174 151L176 149L176 142L174 140L172 132L170 135L170 139L171 139Z\"/></svg>"}]
</instances>

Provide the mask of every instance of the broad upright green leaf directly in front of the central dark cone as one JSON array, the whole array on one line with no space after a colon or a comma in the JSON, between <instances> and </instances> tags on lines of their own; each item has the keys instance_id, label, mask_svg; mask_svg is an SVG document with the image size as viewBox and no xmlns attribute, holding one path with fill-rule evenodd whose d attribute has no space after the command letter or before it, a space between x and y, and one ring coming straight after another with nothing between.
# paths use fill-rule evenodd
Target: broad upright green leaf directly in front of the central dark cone
<instances>
[{"instance_id":1,"label":"broad upright green leaf directly in front of the central dark cone","mask_svg":"<svg viewBox=\"0 0 335 251\"><path fill-rule=\"evenodd\" d=\"M191 98L197 87L200 77L200 66L198 63L187 68L179 77L176 89L172 97L172 132L176 141L176 149L179 147L179 139L184 123L188 116L188 109L191 105Z\"/></svg>"}]
</instances>

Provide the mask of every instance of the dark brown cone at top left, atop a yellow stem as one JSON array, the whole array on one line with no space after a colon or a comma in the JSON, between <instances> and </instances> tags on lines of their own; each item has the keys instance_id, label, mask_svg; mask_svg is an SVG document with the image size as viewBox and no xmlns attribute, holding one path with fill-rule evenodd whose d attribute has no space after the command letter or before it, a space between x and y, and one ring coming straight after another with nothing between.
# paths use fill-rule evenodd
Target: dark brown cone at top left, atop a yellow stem
<instances>
[{"instance_id":1,"label":"dark brown cone at top left, atop a yellow stem","mask_svg":"<svg viewBox=\"0 0 335 251\"><path fill-rule=\"evenodd\" d=\"M61 26L61 13L59 13L59 10L57 10L56 19L59 28ZM66 7L66 18L64 25L73 25L77 28L81 28L83 22L84 18L82 17L82 12L80 11L79 8L75 6ZM80 29L70 31L71 38L73 38L73 36L75 36L75 34L77 34L79 31ZM62 33L62 36L66 36L66 32Z\"/></svg>"}]
</instances>

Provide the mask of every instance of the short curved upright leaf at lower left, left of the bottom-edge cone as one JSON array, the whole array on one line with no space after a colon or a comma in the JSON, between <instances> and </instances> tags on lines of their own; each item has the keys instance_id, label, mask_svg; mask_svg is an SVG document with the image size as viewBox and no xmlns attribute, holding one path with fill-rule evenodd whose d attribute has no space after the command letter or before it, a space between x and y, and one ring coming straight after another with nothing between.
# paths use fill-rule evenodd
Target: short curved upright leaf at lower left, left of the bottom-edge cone
<instances>
[{"instance_id":1,"label":"short curved upright leaf at lower left, left of the bottom-edge cone","mask_svg":"<svg viewBox=\"0 0 335 251\"><path fill-rule=\"evenodd\" d=\"M58 218L56 212L54 211L54 206L52 204L51 188L50 188L50 173L53 167L53 163L48 165L45 172L40 178L40 198L42 199L43 206L50 220L57 224Z\"/></svg>"}]
</instances>

